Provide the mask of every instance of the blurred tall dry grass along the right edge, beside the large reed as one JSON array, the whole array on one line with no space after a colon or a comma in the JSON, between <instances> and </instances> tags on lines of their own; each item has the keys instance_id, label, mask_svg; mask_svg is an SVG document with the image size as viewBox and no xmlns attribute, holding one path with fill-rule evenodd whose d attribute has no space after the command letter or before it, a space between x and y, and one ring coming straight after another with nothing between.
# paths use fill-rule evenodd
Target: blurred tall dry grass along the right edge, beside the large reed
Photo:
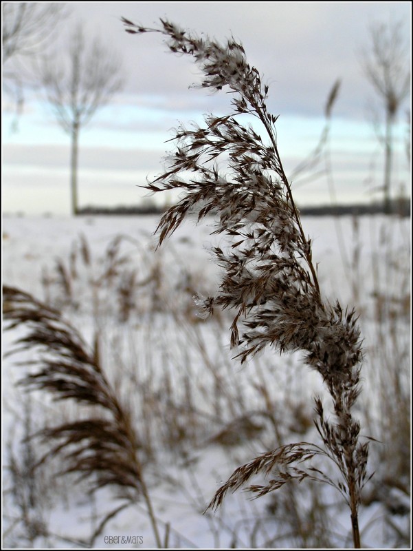
<instances>
[{"instance_id":1,"label":"blurred tall dry grass along the right edge, beside the large reed","mask_svg":"<svg viewBox=\"0 0 413 551\"><path fill-rule=\"evenodd\" d=\"M374 230L378 239L370 258L372 289L361 317L368 352L364 417L381 444L373 450L377 472L363 502L383 503L381 526L395 546L403 547L411 538L410 236L396 217L391 226L383 223ZM361 279L356 297L366 302Z\"/></svg>"}]
</instances>

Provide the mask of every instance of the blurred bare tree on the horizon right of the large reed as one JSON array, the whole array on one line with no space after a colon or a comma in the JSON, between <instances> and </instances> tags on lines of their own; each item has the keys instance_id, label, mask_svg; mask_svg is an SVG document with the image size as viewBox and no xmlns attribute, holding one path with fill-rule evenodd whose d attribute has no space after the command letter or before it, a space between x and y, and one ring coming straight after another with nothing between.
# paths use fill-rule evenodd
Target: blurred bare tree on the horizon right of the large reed
<instances>
[{"instance_id":1,"label":"blurred bare tree on the horizon right of the large reed","mask_svg":"<svg viewBox=\"0 0 413 551\"><path fill-rule=\"evenodd\" d=\"M410 92L410 60L402 31L401 22L372 25L370 48L361 52L363 70L385 110L383 203L387 214L391 211L393 128L399 108Z\"/></svg>"}]
</instances>

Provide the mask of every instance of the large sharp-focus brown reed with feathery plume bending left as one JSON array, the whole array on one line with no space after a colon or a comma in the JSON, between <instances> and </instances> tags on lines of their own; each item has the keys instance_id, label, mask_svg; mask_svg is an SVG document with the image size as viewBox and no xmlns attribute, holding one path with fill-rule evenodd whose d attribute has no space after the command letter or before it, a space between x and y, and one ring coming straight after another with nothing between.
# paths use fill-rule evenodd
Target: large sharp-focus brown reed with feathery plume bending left
<instances>
[{"instance_id":1,"label":"large sharp-focus brown reed with feathery plume bending left","mask_svg":"<svg viewBox=\"0 0 413 551\"><path fill-rule=\"evenodd\" d=\"M203 72L199 87L226 88L234 94L230 114L210 114L203 127L177 129L172 138L177 147L166 158L164 174L147 186L153 192L181 191L179 202L161 217L159 245L188 215L196 214L199 222L214 214L212 233L221 235L226 245L212 249L222 280L219 292L203 301L203 314L214 313L216 307L232 311L231 346L241 363L268 345L281 353L302 351L305 363L322 376L333 404L329 418L322 399L315 399L322 446L287 444L241 466L208 508L221 505L228 490L258 474L271 479L267 486L249 486L257 497L287 481L322 481L337 488L348 503L353 543L359 548L358 508L368 480L368 441L359 440L360 425L353 416L362 361L357 316L338 301L329 304L322 298L311 239L302 228L278 152L278 117L267 110L269 86L234 39L221 45L162 19L159 28L122 21L126 32L160 33L171 52L192 56ZM241 123L243 115L259 121L265 137ZM320 456L332 461L340 479L313 466L311 459Z\"/></svg>"}]
</instances>

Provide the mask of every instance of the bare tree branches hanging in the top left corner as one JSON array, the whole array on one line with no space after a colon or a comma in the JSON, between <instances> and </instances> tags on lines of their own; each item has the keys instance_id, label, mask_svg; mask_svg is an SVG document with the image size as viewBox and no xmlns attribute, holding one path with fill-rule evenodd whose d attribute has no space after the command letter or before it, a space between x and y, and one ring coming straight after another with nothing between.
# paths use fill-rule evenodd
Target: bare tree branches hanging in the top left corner
<instances>
[{"instance_id":1,"label":"bare tree branches hanging in the top left corner","mask_svg":"<svg viewBox=\"0 0 413 551\"><path fill-rule=\"evenodd\" d=\"M23 87L35 85L33 63L52 42L67 6L63 2L3 2L1 8L3 90L19 113Z\"/></svg>"}]
</instances>

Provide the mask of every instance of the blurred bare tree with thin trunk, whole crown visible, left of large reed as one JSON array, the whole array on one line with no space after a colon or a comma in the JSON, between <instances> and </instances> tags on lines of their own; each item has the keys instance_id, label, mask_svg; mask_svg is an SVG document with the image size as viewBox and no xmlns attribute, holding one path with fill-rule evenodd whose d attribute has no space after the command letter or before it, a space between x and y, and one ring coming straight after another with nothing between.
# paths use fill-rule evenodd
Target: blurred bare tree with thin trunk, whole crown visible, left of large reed
<instances>
[{"instance_id":1,"label":"blurred bare tree with thin trunk, whole crown visible, left of large reed","mask_svg":"<svg viewBox=\"0 0 413 551\"><path fill-rule=\"evenodd\" d=\"M71 211L78 214L78 141L80 129L109 103L123 85L122 65L99 39L87 41L82 25L69 40L67 63L58 54L45 61L41 82L56 119L71 136Z\"/></svg>"}]
</instances>

